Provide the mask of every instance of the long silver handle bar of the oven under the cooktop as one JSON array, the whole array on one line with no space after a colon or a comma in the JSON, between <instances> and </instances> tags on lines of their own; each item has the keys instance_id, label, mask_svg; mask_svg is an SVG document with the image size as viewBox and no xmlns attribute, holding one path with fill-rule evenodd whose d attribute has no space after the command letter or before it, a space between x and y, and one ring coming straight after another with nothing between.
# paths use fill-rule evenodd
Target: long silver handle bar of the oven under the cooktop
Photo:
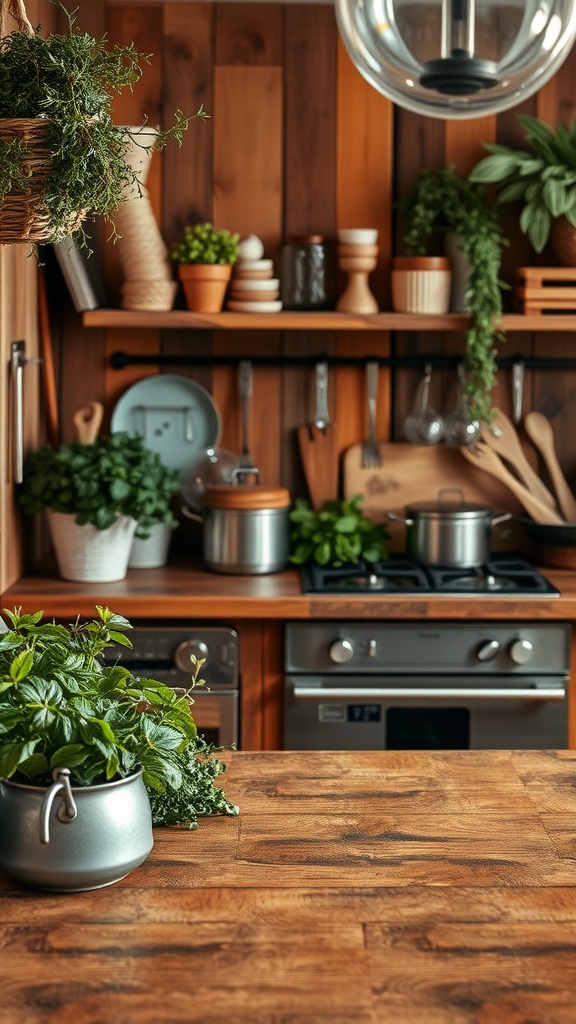
<instances>
[{"instance_id":1,"label":"long silver handle bar of the oven under the cooktop","mask_svg":"<svg viewBox=\"0 0 576 1024\"><path fill-rule=\"evenodd\" d=\"M293 693L296 699L319 700L319 699L341 699L355 700L363 697L372 700L386 699L387 697L421 700L427 697L430 700L566 700L566 690L564 687L553 687L550 689L466 689L458 687L448 689L437 687L436 689L424 689L423 687L389 687L378 689L376 687L359 687L358 689L345 689L345 687L322 687L322 686L294 686Z\"/></svg>"}]
</instances>

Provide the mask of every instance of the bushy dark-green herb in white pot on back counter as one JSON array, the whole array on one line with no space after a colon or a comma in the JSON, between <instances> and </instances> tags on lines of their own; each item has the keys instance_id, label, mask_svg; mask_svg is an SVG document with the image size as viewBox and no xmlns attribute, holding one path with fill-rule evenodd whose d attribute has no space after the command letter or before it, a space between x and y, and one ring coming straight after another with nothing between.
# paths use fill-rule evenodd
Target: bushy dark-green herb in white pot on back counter
<instances>
[{"instance_id":1,"label":"bushy dark-green herb in white pot on back counter","mask_svg":"<svg viewBox=\"0 0 576 1024\"><path fill-rule=\"evenodd\" d=\"M177 525L171 498L178 488L176 469L139 434L119 431L32 453L19 501L29 515L47 512L65 580L110 582L126 575L134 537Z\"/></svg>"}]
</instances>

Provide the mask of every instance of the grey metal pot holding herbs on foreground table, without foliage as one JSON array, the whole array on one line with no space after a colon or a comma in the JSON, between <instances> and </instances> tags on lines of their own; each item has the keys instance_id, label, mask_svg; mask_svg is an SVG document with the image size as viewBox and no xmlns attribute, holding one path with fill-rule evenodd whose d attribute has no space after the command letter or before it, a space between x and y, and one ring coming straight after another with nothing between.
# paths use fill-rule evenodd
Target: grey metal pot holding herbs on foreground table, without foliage
<instances>
[{"instance_id":1,"label":"grey metal pot holding herbs on foreground table, without foliage","mask_svg":"<svg viewBox=\"0 0 576 1024\"><path fill-rule=\"evenodd\" d=\"M154 846L141 771L101 785L0 779L0 870L35 889L82 892L125 878Z\"/></svg>"}]
</instances>

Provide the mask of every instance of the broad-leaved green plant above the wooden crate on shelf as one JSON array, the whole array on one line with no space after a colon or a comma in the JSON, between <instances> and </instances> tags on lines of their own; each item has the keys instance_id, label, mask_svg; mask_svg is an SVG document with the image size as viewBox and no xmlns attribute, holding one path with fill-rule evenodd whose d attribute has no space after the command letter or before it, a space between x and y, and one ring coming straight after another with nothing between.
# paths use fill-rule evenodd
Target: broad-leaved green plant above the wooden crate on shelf
<instances>
[{"instance_id":1,"label":"broad-leaved green plant above the wooden crate on shelf","mask_svg":"<svg viewBox=\"0 0 576 1024\"><path fill-rule=\"evenodd\" d=\"M528 148L485 142L491 156L476 165L470 181L499 185L499 203L524 203L520 227L541 253L557 217L576 226L576 120L570 127L561 122L556 131L539 118L518 120Z\"/></svg>"}]
</instances>

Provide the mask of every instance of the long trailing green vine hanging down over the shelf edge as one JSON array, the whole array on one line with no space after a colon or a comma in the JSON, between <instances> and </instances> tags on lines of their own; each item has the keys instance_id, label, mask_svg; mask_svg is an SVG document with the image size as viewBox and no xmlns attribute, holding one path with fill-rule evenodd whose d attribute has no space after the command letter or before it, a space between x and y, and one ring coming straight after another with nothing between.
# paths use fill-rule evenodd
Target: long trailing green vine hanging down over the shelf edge
<instances>
[{"instance_id":1,"label":"long trailing green vine hanging down over the shelf edge","mask_svg":"<svg viewBox=\"0 0 576 1024\"><path fill-rule=\"evenodd\" d=\"M508 244L498 212L483 185L457 174L453 165L423 170L399 204L407 254L423 256L435 231L452 231L469 263L466 305L466 394L472 419L490 422L496 376L496 343L503 341L501 254Z\"/></svg>"}]
</instances>

